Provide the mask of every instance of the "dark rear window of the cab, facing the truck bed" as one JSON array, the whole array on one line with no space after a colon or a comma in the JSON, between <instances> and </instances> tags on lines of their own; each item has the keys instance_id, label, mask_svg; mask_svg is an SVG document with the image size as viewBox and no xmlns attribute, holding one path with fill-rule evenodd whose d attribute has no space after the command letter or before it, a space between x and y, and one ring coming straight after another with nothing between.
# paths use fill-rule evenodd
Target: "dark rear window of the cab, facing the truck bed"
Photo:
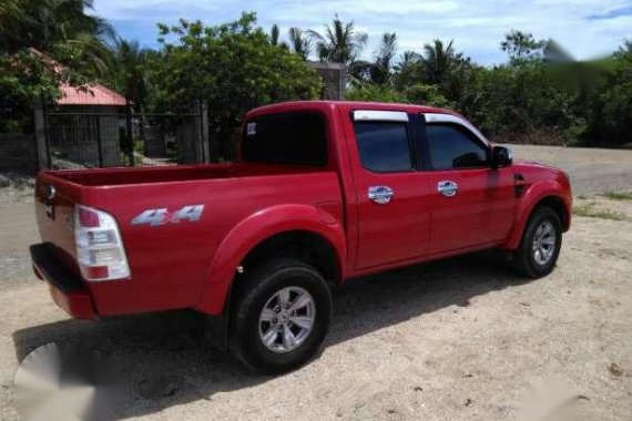
<instances>
[{"instance_id":1,"label":"dark rear window of the cab, facing the truck bed","mask_svg":"<svg viewBox=\"0 0 632 421\"><path fill-rule=\"evenodd\" d=\"M247 162L326 165L325 119L316 113L251 119L244 127L242 156Z\"/></svg>"}]
</instances>

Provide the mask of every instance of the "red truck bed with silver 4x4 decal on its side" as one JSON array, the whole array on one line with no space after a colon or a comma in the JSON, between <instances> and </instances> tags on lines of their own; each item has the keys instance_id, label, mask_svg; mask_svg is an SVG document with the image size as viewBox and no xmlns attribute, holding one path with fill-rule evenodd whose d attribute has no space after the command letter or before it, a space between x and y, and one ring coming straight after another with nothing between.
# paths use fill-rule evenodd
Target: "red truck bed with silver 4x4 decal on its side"
<instances>
[{"instance_id":1,"label":"red truck bed with silver 4x4 decal on its side","mask_svg":"<svg viewBox=\"0 0 632 421\"><path fill-rule=\"evenodd\" d=\"M50 186L55 191L53 199L47 198ZM336 172L305 166L244 163L43 172L35 192L42 242L78 276L74 205L115 216L131 277L83 283L101 316L194 308L222 242L245 219L264 210L333 203L339 208L336 218L342 218ZM203 206L200 220L160 226L133 223L146 210L174 213L185 206Z\"/></svg>"}]
</instances>

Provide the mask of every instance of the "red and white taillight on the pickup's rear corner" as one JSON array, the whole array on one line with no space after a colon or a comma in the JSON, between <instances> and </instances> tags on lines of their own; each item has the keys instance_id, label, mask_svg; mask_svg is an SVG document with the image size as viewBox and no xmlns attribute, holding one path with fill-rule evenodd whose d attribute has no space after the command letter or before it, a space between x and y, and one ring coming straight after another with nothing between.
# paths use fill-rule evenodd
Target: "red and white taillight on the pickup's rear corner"
<instances>
[{"instance_id":1,"label":"red and white taillight on the pickup's rear corner","mask_svg":"<svg viewBox=\"0 0 632 421\"><path fill-rule=\"evenodd\" d=\"M77 205L74 209L77 260L85 280L130 277L130 266L116 220L112 215Z\"/></svg>"}]
</instances>

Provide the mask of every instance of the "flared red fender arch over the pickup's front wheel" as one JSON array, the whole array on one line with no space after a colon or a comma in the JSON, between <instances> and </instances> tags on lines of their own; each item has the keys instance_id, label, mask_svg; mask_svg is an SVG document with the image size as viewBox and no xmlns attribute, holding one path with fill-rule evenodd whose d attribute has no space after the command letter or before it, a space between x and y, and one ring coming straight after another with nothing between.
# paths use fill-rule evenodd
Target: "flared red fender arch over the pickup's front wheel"
<instances>
[{"instance_id":1,"label":"flared red fender arch over the pickup's front wheel","mask_svg":"<svg viewBox=\"0 0 632 421\"><path fill-rule=\"evenodd\" d=\"M570 203L568 196L564 194L563 187L554 182L554 181L542 181L538 182L527 188L527 191L520 197L520 201L517 203L516 207L516 223L513 224L513 228L509 234L509 237L502 248L506 249L517 249L520 245L520 240L522 239L522 233L524 232L524 227L527 222L529 220L529 216L536 208L536 206L546 197L555 197L560 199L564 204L564 213L567 215L567 220L570 220L570 213L572 204ZM564 226L564 230L568 229L568 226Z\"/></svg>"}]
</instances>

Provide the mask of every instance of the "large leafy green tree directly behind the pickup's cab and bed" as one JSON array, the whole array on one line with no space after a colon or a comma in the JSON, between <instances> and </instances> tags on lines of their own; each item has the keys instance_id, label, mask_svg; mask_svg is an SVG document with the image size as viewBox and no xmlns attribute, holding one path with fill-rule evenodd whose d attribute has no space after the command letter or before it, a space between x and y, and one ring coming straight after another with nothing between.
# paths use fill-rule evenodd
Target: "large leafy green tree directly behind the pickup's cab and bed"
<instances>
[{"instance_id":1,"label":"large leafy green tree directly behind the pickup's cab and bed","mask_svg":"<svg viewBox=\"0 0 632 421\"><path fill-rule=\"evenodd\" d=\"M254 13L217 27L181 20L160 31L163 39L179 39L164 42L150 60L153 109L184 110L202 97L214 130L226 130L255 106L320 93L316 73L300 57L274 45Z\"/></svg>"}]
</instances>

